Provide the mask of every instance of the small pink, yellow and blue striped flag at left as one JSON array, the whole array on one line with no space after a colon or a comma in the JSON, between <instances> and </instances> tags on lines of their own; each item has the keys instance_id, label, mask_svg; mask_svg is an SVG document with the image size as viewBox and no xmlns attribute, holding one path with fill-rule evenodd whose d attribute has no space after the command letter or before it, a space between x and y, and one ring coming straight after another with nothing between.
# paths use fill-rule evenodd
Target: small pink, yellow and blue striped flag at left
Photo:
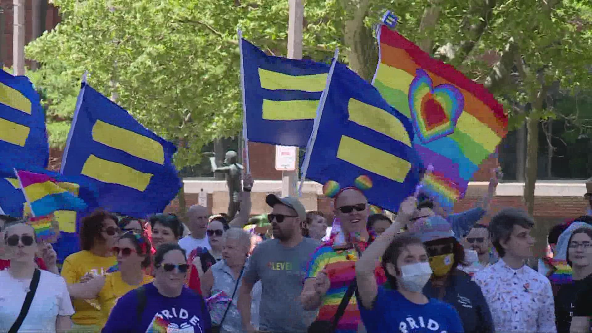
<instances>
[{"instance_id":1,"label":"small pink, yellow and blue striped flag at left","mask_svg":"<svg viewBox=\"0 0 592 333\"><path fill-rule=\"evenodd\" d=\"M67 190L72 187L72 184L59 183L48 175L35 172L16 171L16 173L33 217L46 216L56 210L86 209L86 203Z\"/></svg>"}]
</instances>

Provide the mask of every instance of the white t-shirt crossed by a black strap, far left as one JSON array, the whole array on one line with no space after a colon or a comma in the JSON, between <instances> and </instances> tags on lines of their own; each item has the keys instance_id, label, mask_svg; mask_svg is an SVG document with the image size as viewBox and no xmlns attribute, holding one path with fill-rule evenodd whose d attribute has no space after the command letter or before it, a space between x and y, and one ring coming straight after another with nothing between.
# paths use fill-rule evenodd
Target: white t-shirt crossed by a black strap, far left
<instances>
[{"instance_id":1,"label":"white t-shirt crossed by a black strap, far left","mask_svg":"<svg viewBox=\"0 0 592 333\"><path fill-rule=\"evenodd\" d=\"M7 332L21 312L31 279L17 280L0 271L0 332ZM63 277L41 271L37 292L19 332L55 332L57 316L74 314Z\"/></svg>"}]
</instances>

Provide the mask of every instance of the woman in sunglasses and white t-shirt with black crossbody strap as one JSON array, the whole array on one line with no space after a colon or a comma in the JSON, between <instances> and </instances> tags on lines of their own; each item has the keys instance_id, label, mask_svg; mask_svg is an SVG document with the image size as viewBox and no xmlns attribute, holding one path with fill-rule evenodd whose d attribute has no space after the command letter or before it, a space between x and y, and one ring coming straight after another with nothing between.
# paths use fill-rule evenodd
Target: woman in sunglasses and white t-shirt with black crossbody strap
<instances>
[{"instance_id":1,"label":"woman in sunglasses and white t-shirt with black crossbody strap","mask_svg":"<svg viewBox=\"0 0 592 333\"><path fill-rule=\"evenodd\" d=\"M5 249L11 266L0 271L0 332L66 332L74 314L66 281L37 269L35 230L25 223L6 229ZM33 297L25 302L27 296ZM18 320L21 313L24 319Z\"/></svg>"}]
</instances>

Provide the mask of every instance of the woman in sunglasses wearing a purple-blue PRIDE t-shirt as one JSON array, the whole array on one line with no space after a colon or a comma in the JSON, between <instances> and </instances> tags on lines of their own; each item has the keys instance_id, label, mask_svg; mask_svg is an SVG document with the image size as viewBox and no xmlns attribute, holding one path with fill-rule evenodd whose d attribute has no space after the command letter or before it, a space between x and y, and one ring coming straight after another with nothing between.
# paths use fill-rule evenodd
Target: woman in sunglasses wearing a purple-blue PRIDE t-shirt
<instances>
[{"instance_id":1,"label":"woman in sunglasses wearing a purple-blue PRIDE t-shirt","mask_svg":"<svg viewBox=\"0 0 592 333\"><path fill-rule=\"evenodd\" d=\"M120 297L104 333L211 332L204 299L187 287L185 250L162 244L154 257L155 279Z\"/></svg>"}]
</instances>

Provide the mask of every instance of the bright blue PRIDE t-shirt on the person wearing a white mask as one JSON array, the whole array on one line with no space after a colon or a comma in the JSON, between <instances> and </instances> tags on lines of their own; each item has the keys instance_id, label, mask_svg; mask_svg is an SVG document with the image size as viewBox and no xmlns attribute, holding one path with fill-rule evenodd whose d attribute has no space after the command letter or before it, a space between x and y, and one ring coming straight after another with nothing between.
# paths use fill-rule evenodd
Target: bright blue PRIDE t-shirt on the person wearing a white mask
<instances>
[{"instance_id":1,"label":"bright blue PRIDE t-shirt on the person wearing a white mask","mask_svg":"<svg viewBox=\"0 0 592 333\"><path fill-rule=\"evenodd\" d=\"M451 305L429 299L424 305L407 300L400 292L378 287L372 310L358 302L362 321L368 333L459 333L461 318Z\"/></svg>"}]
</instances>

